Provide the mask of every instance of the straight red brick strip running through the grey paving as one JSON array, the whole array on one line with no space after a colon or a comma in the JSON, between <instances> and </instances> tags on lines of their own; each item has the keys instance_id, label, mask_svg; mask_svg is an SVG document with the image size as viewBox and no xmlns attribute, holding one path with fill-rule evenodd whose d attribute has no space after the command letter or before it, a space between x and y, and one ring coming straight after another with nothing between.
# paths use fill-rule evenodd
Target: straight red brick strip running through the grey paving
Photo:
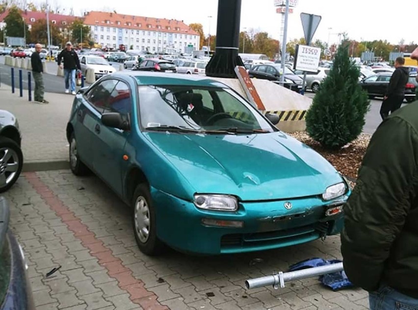
<instances>
[{"instance_id":1,"label":"straight red brick strip running through the grey paving","mask_svg":"<svg viewBox=\"0 0 418 310\"><path fill-rule=\"evenodd\" d=\"M51 210L62 219L69 230L74 232L74 236L81 240L83 246L90 250L90 255L96 257L99 264L106 268L108 275L118 281L118 286L130 294L133 303L140 305L144 310L168 310L167 306L157 301L157 295L148 291L141 281L134 278L131 270L125 267L119 258L113 256L112 251L104 246L103 242L96 238L95 234L91 233L87 226L58 199L36 172L26 172L24 175Z\"/></svg>"}]
</instances>

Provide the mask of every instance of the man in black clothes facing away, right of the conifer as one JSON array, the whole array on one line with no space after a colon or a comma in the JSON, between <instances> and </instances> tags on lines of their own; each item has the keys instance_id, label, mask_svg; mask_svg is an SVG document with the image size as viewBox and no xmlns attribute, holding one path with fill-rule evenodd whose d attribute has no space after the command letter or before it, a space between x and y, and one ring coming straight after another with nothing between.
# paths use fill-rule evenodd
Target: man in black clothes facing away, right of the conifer
<instances>
[{"instance_id":1,"label":"man in black clothes facing away, right of the conifer","mask_svg":"<svg viewBox=\"0 0 418 310\"><path fill-rule=\"evenodd\" d=\"M404 67L405 58L398 57L395 60L395 71L389 81L388 91L383 98L382 106L380 107L380 116L386 119L389 112L393 113L402 105L405 98L405 86L409 79L409 70Z\"/></svg>"}]
</instances>

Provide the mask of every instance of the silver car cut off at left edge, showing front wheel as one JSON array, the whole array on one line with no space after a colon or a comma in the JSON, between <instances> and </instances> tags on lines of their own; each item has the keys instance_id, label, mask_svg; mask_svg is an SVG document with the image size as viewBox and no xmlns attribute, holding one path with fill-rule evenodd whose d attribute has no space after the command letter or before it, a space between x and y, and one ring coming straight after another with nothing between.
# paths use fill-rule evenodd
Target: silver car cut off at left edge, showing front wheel
<instances>
[{"instance_id":1,"label":"silver car cut off at left edge, showing front wheel","mask_svg":"<svg viewBox=\"0 0 418 310\"><path fill-rule=\"evenodd\" d=\"M13 114L0 110L0 192L17 181L23 167L19 122Z\"/></svg>"}]
</instances>

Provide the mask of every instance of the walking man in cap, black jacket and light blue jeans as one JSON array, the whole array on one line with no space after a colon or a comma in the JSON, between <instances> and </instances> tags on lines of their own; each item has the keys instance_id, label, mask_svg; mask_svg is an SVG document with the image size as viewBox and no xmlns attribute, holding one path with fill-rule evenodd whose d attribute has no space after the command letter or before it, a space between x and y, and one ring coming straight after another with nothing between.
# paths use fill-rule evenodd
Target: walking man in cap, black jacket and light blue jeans
<instances>
[{"instance_id":1,"label":"walking man in cap, black jacket and light blue jeans","mask_svg":"<svg viewBox=\"0 0 418 310\"><path fill-rule=\"evenodd\" d=\"M81 70L80 61L71 42L67 42L65 46L66 47L59 53L57 62L61 69L64 68L65 93L70 93L71 79L71 93L76 95L76 70ZM61 64L61 61L64 61L64 66Z\"/></svg>"}]
</instances>

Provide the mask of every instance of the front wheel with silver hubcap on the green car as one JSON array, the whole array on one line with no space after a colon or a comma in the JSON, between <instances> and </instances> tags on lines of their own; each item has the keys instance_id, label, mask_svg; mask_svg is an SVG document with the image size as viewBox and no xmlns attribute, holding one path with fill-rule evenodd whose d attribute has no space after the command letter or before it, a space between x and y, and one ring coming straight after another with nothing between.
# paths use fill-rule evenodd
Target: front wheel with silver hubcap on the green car
<instances>
[{"instance_id":1,"label":"front wheel with silver hubcap on the green car","mask_svg":"<svg viewBox=\"0 0 418 310\"><path fill-rule=\"evenodd\" d=\"M133 192L132 227L136 243L142 253L157 256L163 252L164 243L157 238L156 214L146 183L137 185Z\"/></svg>"}]
</instances>

